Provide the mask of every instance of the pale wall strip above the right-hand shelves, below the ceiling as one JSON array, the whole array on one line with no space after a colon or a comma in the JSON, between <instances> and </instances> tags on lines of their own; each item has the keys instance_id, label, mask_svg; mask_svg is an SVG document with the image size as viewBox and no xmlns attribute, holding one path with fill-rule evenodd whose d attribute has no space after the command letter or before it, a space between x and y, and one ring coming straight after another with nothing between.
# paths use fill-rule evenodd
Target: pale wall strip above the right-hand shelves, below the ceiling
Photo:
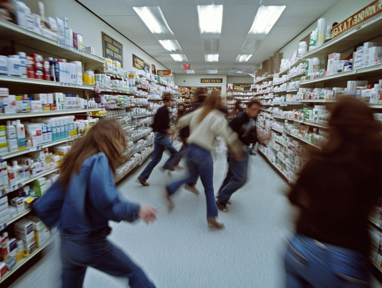
<instances>
[{"instance_id":1,"label":"pale wall strip above the right-hand shelves, below the ceiling","mask_svg":"<svg viewBox=\"0 0 382 288\"><path fill-rule=\"evenodd\" d=\"M325 18L326 25L332 25L334 22L342 22L349 16L356 13L361 8L370 4L372 0L340 0L333 8L328 10L320 18ZM314 29L317 28L318 19L316 19L309 27L297 35L290 43L280 49L281 58L290 59L293 56L295 50L298 51L298 44L306 36L310 35ZM309 48L309 43L308 48ZM333 51L342 52L342 51ZM270 55L272 56L272 55Z\"/></svg>"}]
</instances>

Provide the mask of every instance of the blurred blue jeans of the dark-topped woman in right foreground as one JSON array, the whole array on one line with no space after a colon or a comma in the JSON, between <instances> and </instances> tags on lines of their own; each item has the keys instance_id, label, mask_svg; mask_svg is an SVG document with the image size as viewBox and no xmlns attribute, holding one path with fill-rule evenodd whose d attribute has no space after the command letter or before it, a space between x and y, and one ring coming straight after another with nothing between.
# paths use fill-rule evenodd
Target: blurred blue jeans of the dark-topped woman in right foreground
<instances>
[{"instance_id":1,"label":"blurred blue jeans of the dark-topped woman in right foreground","mask_svg":"<svg viewBox=\"0 0 382 288\"><path fill-rule=\"evenodd\" d=\"M286 288L370 287L367 260L358 252L296 235L284 258Z\"/></svg>"}]
</instances>

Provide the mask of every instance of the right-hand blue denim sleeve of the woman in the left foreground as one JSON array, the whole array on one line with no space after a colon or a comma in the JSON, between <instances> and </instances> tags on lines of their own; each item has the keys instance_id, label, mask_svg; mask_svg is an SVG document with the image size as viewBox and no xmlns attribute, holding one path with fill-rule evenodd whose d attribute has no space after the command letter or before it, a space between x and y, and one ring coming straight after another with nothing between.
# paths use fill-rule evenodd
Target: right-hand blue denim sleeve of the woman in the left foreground
<instances>
[{"instance_id":1,"label":"right-hand blue denim sleeve of the woman in the left foreground","mask_svg":"<svg viewBox=\"0 0 382 288\"><path fill-rule=\"evenodd\" d=\"M93 206L103 213L106 219L116 222L133 222L138 219L141 206L119 198L113 173L105 154L100 154L95 159L87 189Z\"/></svg>"}]
</instances>

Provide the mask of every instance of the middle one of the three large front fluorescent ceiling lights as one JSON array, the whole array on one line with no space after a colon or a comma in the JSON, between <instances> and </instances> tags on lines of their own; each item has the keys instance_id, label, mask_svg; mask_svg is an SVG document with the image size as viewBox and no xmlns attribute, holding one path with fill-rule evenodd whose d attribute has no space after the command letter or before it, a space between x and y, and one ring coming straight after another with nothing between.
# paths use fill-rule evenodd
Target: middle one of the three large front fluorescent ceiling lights
<instances>
[{"instance_id":1,"label":"middle one of the three large front fluorescent ceiling lights","mask_svg":"<svg viewBox=\"0 0 382 288\"><path fill-rule=\"evenodd\" d=\"M223 5L198 5L200 33L221 33Z\"/></svg>"}]
</instances>

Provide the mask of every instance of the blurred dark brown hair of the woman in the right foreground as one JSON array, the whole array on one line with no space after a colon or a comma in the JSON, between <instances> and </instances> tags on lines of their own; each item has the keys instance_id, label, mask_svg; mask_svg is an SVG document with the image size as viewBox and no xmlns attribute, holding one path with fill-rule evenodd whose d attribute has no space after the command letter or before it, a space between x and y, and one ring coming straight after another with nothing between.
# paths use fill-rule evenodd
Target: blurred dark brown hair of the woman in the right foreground
<instances>
[{"instance_id":1,"label":"blurred dark brown hair of the woman in the right foreground","mask_svg":"<svg viewBox=\"0 0 382 288\"><path fill-rule=\"evenodd\" d=\"M381 132L381 124L374 119L371 108L355 98L343 96L331 111L329 139L316 156L338 162L380 156Z\"/></svg>"}]
</instances>

